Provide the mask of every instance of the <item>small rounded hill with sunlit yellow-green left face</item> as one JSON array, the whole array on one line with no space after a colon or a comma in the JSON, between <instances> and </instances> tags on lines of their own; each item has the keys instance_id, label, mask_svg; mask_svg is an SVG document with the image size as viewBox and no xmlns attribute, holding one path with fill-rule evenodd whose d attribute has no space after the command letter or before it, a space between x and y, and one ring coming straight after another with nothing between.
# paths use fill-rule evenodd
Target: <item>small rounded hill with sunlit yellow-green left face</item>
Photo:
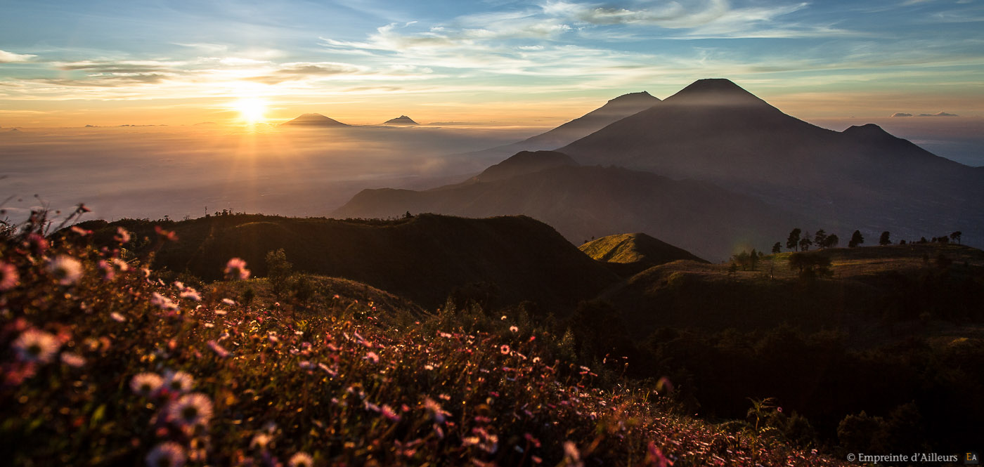
<instances>
[{"instance_id":1,"label":"small rounded hill with sunlit yellow-green left face","mask_svg":"<svg viewBox=\"0 0 984 467\"><path fill-rule=\"evenodd\" d=\"M585 243L579 249L595 261L606 263L609 268L623 276L634 275L654 265L679 260L707 263L684 249L641 232L601 237Z\"/></svg>"}]
</instances>

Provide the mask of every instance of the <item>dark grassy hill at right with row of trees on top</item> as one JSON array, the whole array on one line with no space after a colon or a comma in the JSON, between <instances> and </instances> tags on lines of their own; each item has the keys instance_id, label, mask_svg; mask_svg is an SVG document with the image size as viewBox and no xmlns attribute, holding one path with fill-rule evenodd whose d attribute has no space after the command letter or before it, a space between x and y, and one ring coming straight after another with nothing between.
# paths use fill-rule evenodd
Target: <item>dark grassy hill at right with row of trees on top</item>
<instances>
[{"instance_id":1,"label":"dark grassy hill at right with row of trees on top","mask_svg":"<svg viewBox=\"0 0 984 467\"><path fill-rule=\"evenodd\" d=\"M650 267L606 291L636 322L637 337L658 326L768 329L788 323L804 330L856 330L858 339L913 330L931 319L980 321L984 252L958 245L906 245L809 252L830 258L833 277L804 283L788 267L789 253L771 255L757 271L727 264L678 261ZM924 255L931 260L924 261ZM953 264L942 269L936 258ZM944 324L940 324L947 327Z\"/></svg>"}]
</instances>

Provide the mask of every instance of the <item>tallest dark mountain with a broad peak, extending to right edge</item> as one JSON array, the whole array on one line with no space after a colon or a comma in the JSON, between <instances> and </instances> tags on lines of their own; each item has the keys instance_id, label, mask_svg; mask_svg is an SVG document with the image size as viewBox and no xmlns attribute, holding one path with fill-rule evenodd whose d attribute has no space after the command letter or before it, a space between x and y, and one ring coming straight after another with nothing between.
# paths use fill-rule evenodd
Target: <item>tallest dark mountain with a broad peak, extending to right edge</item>
<instances>
[{"instance_id":1,"label":"tallest dark mountain with a broad peak, extending to right edge","mask_svg":"<svg viewBox=\"0 0 984 467\"><path fill-rule=\"evenodd\" d=\"M728 80L695 82L558 150L582 164L711 182L828 230L901 238L984 230L980 171L875 125L811 125ZM969 241L982 244L984 235Z\"/></svg>"}]
</instances>

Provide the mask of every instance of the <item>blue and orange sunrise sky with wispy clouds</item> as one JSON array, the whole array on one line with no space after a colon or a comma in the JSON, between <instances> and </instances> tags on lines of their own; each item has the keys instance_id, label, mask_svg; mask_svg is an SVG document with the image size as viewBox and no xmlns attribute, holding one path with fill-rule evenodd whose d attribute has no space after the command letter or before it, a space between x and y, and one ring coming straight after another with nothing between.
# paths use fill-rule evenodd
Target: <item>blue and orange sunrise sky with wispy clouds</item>
<instances>
[{"instance_id":1,"label":"blue and orange sunrise sky with wispy clouds","mask_svg":"<svg viewBox=\"0 0 984 467\"><path fill-rule=\"evenodd\" d=\"M552 126L622 93L665 98L701 78L731 79L808 121L984 118L981 0L4 0L2 10L0 127L306 112ZM940 112L959 117L929 116Z\"/></svg>"}]
</instances>

